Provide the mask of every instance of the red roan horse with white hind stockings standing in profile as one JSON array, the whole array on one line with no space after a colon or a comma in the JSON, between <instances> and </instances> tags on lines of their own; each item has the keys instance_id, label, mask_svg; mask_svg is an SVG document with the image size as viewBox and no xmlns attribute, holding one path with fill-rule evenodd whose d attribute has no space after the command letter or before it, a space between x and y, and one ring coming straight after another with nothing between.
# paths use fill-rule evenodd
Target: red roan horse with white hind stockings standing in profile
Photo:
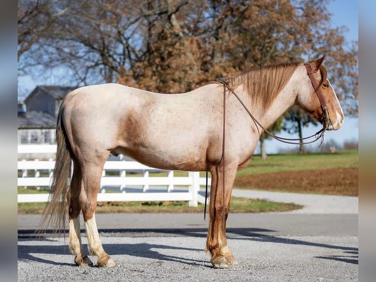
<instances>
[{"instance_id":1,"label":"red roan horse with white hind stockings standing in profile","mask_svg":"<svg viewBox=\"0 0 376 282\"><path fill-rule=\"evenodd\" d=\"M99 267L113 267L116 263L103 249L95 221L102 170L109 155L124 154L158 169L209 171L206 251L215 268L237 264L226 239L231 192L236 172L251 160L263 128L293 105L321 123L328 118L325 130L337 130L344 122L323 60L324 56L306 64L255 68L225 83L210 82L179 94L119 84L73 90L65 95L58 112L56 162L42 222L54 231L65 230L68 215L74 261L78 266L93 265L82 248L82 211L89 253L97 256Z\"/></svg>"}]
</instances>

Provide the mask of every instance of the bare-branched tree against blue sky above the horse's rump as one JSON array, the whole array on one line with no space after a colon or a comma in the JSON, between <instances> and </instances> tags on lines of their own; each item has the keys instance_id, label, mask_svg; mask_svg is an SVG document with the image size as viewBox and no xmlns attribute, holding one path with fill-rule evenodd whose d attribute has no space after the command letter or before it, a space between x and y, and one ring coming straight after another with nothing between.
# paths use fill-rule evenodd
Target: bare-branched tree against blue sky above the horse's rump
<instances>
[{"instance_id":1,"label":"bare-branched tree against blue sky above the horse's rump","mask_svg":"<svg viewBox=\"0 0 376 282\"><path fill-rule=\"evenodd\" d=\"M45 0L46 9L59 16L40 34L20 62L25 71L65 68L77 85L115 82L121 66L136 59L130 40L141 36L138 1ZM28 1L19 3L24 9ZM27 24L27 23L26 23ZM19 49L26 38L19 37ZM142 56L142 54L137 54Z\"/></svg>"}]
</instances>

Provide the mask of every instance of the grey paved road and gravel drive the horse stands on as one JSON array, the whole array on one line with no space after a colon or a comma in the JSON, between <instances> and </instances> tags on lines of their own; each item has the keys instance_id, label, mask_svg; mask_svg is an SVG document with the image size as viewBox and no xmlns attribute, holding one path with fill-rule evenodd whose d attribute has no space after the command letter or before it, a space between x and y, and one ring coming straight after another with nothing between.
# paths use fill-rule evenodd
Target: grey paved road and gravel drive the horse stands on
<instances>
[{"instance_id":1,"label":"grey paved road and gravel drive the horse stands on","mask_svg":"<svg viewBox=\"0 0 376 282\"><path fill-rule=\"evenodd\" d=\"M357 198L303 196L283 197L306 204L298 213L230 214L228 244L240 264L221 270L204 251L202 214L98 214L112 269L75 267L67 239L36 239L40 216L19 216L18 281L357 281Z\"/></svg>"}]
</instances>

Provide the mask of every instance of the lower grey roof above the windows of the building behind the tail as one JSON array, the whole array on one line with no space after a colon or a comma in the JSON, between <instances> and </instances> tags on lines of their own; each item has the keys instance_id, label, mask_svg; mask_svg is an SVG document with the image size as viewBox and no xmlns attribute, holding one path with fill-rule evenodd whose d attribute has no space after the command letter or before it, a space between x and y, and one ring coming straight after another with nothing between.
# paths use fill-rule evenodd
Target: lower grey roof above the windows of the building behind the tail
<instances>
[{"instance_id":1,"label":"lower grey roof above the windows of the building behind the tail","mask_svg":"<svg viewBox=\"0 0 376 282\"><path fill-rule=\"evenodd\" d=\"M56 128L56 118L37 111L27 111L18 115L18 129L22 128Z\"/></svg>"}]
</instances>

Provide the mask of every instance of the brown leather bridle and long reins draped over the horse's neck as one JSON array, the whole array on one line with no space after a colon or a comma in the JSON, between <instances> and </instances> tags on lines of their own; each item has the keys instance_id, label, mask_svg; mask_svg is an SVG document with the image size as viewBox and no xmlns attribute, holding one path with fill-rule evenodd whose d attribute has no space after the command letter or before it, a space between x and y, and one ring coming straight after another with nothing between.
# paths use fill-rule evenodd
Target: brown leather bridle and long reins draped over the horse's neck
<instances>
[{"instance_id":1,"label":"brown leather bridle and long reins draped over the horse's neck","mask_svg":"<svg viewBox=\"0 0 376 282\"><path fill-rule=\"evenodd\" d=\"M322 145L322 142L324 140L324 133L326 131L326 128L328 127L329 125L329 122L330 119L328 117L328 110L327 110L327 107L326 107L326 103L325 103L325 100L323 99L323 95L322 95L322 92L321 92L321 89L320 89L320 85L318 85L317 81L315 80L313 74L318 72L319 69L317 69L316 71L312 71L311 69L311 66L309 63L305 63L304 64L306 70L307 70L307 75L309 76L310 80L311 80L311 83L312 83L312 86L315 90L315 93L319 99L319 102L320 102L320 105L321 105L321 108L322 108L322 113L323 113L323 118L322 118L322 129L319 130L318 132L316 132L315 134L311 135L311 136L308 136L308 137L304 137L304 138L296 138L296 139L292 139L292 138L283 138L283 137L279 137L279 136L276 136L274 134L272 134L271 132L269 132L264 126L262 126L260 124L260 122L253 116L253 114L248 110L248 108L245 106L245 104L243 103L242 99L235 93L235 91L230 88L230 86L227 84L227 82L224 80L224 79L220 79L219 82L221 84L223 84L223 138L222 138L222 156L221 156L221 159L219 160L217 166L219 165L220 162L223 162L223 180L222 180L222 219L223 219L223 229L224 229L224 226L225 226L225 197L224 197L224 192L225 192L225 154L224 154L224 150L225 150L225 130L226 130L226 126L225 126L225 120L226 120L226 88L232 93L234 94L234 96L239 100L239 102L242 104L244 110L249 114L249 116L252 118L254 124L256 125L256 129L259 133L259 136L260 136L260 130L259 130L259 127L260 126L264 132L266 132L267 134L269 134L269 136L271 136L272 138L274 138L275 140L278 140L278 141L281 141L281 142L284 142L284 143L288 143L288 144L295 144L295 145L300 145L300 144L310 144L310 143L313 143L313 142L316 142L318 141L319 139L321 139L321 142L320 142L320 146ZM316 137L317 136L317 137ZM315 140L313 141L307 141L307 142L303 142L302 140L307 140L307 139L310 139L310 138L313 138L315 137ZM294 142L294 141L299 141L299 142ZM208 198L208 170L206 170L206 189L205 189L205 206L204 206L204 220L206 220L206 206L207 206L207 198Z\"/></svg>"}]
</instances>

